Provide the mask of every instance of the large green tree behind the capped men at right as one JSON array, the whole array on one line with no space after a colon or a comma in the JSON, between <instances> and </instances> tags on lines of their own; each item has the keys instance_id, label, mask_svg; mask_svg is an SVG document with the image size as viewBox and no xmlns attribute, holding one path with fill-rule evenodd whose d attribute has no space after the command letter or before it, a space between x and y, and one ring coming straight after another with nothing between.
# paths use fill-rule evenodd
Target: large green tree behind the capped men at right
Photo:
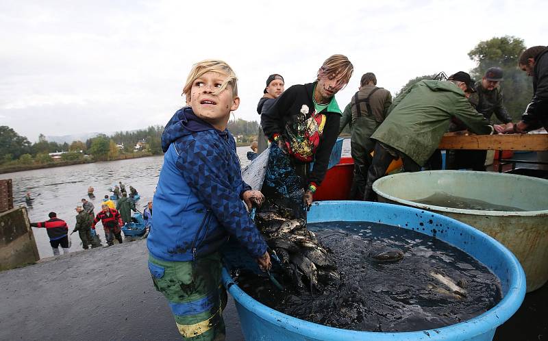
<instances>
[{"instance_id":1,"label":"large green tree behind the capped men at right","mask_svg":"<svg viewBox=\"0 0 548 341\"><path fill-rule=\"evenodd\" d=\"M513 36L495 37L479 42L468 55L477 66L471 70L474 79L482 79L492 67L502 68L503 101L514 121L519 121L533 94L532 81L517 68L519 55L525 50L523 39Z\"/></svg>"}]
</instances>

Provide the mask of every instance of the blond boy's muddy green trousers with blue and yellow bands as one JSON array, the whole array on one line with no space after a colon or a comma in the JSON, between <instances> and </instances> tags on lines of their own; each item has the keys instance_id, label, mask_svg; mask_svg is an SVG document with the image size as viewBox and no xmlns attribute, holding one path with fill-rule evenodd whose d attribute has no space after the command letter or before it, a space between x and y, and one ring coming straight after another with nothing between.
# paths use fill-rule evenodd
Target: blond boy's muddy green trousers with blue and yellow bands
<instances>
[{"instance_id":1,"label":"blond boy's muddy green trousers with blue and yellow bands","mask_svg":"<svg viewBox=\"0 0 548 341\"><path fill-rule=\"evenodd\" d=\"M227 292L221 268L219 253L195 262L169 262L149 255L152 281L168 300L183 340L225 340Z\"/></svg>"}]
</instances>

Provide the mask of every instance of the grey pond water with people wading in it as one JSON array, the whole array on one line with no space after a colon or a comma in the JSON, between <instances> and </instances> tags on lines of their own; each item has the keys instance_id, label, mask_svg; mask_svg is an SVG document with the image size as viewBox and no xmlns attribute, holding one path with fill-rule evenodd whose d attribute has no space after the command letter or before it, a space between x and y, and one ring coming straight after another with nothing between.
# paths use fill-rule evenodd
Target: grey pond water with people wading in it
<instances>
[{"instance_id":1,"label":"grey pond water with people wading in it","mask_svg":"<svg viewBox=\"0 0 548 341\"><path fill-rule=\"evenodd\" d=\"M242 167L249 164L246 157L249 150L249 147L236 149ZM350 155L349 139L343 142L343 155ZM88 199L89 186L95 188L95 199L91 200L95 205L95 213L101 209L105 194L110 194L108 189L118 181L122 181L126 188L129 185L136 188L141 197L136 207L142 212L153 197L162 164L163 156L151 156L6 173L0 174L0 179L12 179L14 205L26 205L25 194L31 192L34 201L32 206L27 206L31 222L48 220L49 212L55 212L58 218L69 225L69 231L72 231L76 223L74 209L82 204L82 198ZM33 227L33 231L40 257L52 256L46 230ZM105 236L101 224L97 224L97 231L104 244ZM73 233L71 240L71 251L82 249L78 233Z\"/></svg>"}]
</instances>

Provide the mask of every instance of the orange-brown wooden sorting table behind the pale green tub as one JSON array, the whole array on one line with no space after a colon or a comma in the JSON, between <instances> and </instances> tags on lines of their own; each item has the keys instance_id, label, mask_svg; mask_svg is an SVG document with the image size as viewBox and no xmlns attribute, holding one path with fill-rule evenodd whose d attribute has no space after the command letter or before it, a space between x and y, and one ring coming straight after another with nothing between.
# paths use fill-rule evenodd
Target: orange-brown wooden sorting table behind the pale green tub
<instances>
[{"instance_id":1,"label":"orange-brown wooden sorting table behind the pale green tub","mask_svg":"<svg viewBox=\"0 0 548 341\"><path fill-rule=\"evenodd\" d=\"M502 171L502 165L508 163L548 164L548 162L502 158L502 151L548 151L548 134L474 135L457 131L445 134L438 149L499 151L499 173Z\"/></svg>"}]
</instances>

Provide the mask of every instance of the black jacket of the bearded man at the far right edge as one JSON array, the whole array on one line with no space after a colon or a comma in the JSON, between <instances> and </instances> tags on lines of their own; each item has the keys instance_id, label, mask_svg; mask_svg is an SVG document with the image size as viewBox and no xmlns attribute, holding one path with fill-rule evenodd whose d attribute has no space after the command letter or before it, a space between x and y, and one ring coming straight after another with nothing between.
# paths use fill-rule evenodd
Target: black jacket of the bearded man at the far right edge
<instances>
[{"instance_id":1,"label":"black jacket of the bearded man at the far right edge","mask_svg":"<svg viewBox=\"0 0 548 341\"><path fill-rule=\"evenodd\" d=\"M533 99L521 119L527 129L543 125L548 129L548 48L538 53L533 71Z\"/></svg>"}]
</instances>

